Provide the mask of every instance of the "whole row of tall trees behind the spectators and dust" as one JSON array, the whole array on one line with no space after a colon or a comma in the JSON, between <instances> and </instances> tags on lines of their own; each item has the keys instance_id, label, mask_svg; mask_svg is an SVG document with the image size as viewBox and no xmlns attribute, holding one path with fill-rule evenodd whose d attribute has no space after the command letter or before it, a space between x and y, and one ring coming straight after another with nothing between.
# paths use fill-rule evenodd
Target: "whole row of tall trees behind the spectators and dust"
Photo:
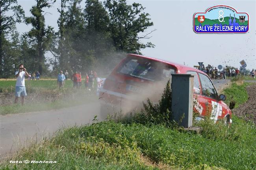
<instances>
[{"instance_id":1,"label":"whole row of tall trees behind the spectators and dust","mask_svg":"<svg viewBox=\"0 0 256 170\"><path fill-rule=\"evenodd\" d=\"M58 31L54 31L46 26L44 15L56 0L35 2L30 9L32 16L27 17L17 0L0 0L2 78L12 76L19 63L43 74L50 73L50 66L54 73L60 69L106 72L124 53L140 54L141 49L154 47L151 42L140 42L150 38L152 31L145 30L153 25L141 4L128 5L126 0L61 0ZM85 3L84 8L81 3ZM20 34L15 25L21 22L32 29ZM45 57L48 54L53 56L50 60Z\"/></svg>"}]
</instances>

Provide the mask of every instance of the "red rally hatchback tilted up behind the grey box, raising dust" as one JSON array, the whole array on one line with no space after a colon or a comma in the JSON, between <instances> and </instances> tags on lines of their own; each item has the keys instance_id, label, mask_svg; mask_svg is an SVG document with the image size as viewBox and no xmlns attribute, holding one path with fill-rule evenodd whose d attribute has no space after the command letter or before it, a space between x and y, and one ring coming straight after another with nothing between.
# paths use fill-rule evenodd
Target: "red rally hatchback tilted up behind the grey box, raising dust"
<instances>
[{"instance_id":1,"label":"red rally hatchback tilted up behind the grey box, raising dust","mask_svg":"<svg viewBox=\"0 0 256 170\"><path fill-rule=\"evenodd\" d=\"M148 93L151 97L154 96L153 92L159 89L156 84L160 81L167 82L173 73L194 76L193 109L198 114L196 119L210 114L215 122L224 118L227 123L232 123L231 110L223 102L226 96L217 93L207 74L185 65L137 54L128 54L106 78L99 93L102 112L104 109L106 112L109 105L121 106L125 101L129 101L130 106L142 103L143 99L150 96L140 96Z\"/></svg>"}]
</instances>

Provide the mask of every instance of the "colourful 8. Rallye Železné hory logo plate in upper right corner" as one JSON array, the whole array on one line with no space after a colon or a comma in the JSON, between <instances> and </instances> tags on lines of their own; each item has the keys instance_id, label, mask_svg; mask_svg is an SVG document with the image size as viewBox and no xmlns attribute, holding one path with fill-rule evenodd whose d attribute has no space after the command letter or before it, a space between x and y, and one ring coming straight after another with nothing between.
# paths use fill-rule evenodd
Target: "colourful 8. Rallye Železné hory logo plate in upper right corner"
<instances>
[{"instance_id":1,"label":"colourful 8. Rallye \u017delezn\u00e9 hory logo plate in upper right corner","mask_svg":"<svg viewBox=\"0 0 256 170\"><path fill-rule=\"evenodd\" d=\"M195 13L193 29L195 33L247 33L249 15L238 13L229 6L218 5L210 7L205 13Z\"/></svg>"}]
</instances>

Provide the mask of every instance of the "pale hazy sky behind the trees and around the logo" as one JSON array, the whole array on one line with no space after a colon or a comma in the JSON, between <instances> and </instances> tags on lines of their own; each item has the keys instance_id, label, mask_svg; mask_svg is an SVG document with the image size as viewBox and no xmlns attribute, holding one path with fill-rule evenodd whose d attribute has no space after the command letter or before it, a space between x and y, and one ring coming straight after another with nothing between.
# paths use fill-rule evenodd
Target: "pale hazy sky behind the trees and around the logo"
<instances>
[{"instance_id":1,"label":"pale hazy sky behind the trees and around the logo","mask_svg":"<svg viewBox=\"0 0 256 170\"><path fill-rule=\"evenodd\" d=\"M160 58L193 67L197 62L204 65L211 64L231 65L240 67L239 61L245 60L247 69L256 69L256 0L128 0L128 4L137 2L146 7L145 12L150 14L154 26L145 33L156 29L148 41L156 45L154 48L142 49L145 56ZM35 0L18 0L26 16L30 16L30 9L35 5ZM249 14L249 32L246 34L196 34L193 31L193 14L205 12L215 5L227 5L237 12ZM50 8L45 9L46 25L58 30L57 8L60 0ZM81 3L85 6L85 0ZM20 33L29 31L30 25L18 24Z\"/></svg>"}]
</instances>

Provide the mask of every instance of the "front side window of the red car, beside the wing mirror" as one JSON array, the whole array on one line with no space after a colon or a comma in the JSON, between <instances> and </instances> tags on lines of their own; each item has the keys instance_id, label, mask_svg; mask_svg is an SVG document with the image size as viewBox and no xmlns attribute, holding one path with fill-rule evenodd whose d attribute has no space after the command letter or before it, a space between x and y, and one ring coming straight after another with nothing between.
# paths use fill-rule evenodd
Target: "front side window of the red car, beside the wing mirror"
<instances>
[{"instance_id":1,"label":"front side window of the red car, beside the wing mirror","mask_svg":"<svg viewBox=\"0 0 256 170\"><path fill-rule=\"evenodd\" d=\"M217 97L217 91L215 90L211 80L204 74L198 73L202 86L202 94L210 98Z\"/></svg>"}]
</instances>

